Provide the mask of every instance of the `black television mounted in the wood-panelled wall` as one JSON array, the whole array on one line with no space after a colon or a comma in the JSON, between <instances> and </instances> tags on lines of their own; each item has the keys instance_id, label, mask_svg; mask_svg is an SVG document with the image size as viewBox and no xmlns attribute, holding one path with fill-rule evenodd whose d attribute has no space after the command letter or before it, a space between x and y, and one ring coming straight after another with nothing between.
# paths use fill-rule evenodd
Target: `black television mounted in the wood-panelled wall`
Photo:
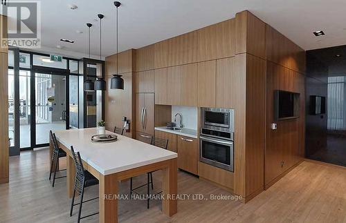
<instances>
[{"instance_id":1,"label":"black television mounted in the wood-panelled wall","mask_svg":"<svg viewBox=\"0 0 346 223\"><path fill-rule=\"evenodd\" d=\"M299 117L300 93L285 90L274 91L274 119L281 121Z\"/></svg>"}]
</instances>

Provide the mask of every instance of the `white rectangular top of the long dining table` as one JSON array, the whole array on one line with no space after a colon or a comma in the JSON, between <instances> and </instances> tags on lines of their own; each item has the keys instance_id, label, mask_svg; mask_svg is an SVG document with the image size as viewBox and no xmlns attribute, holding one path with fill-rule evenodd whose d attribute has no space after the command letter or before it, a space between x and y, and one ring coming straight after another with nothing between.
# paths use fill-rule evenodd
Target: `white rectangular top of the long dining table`
<instances>
[{"instance_id":1,"label":"white rectangular top of the long dining table","mask_svg":"<svg viewBox=\"0 0 346 223\"><path fill-rule=\"evenodd\" d=\"M54 133L61 144L69 149L73 146L75 152L80 152L84 162L103 175L178 157L172 151L122 135L118 135L116 142L91 142L91 136L98 135L97 128L59 130ZM106 131L106 134L115 133Z\"/></svg>"}]
</instances>

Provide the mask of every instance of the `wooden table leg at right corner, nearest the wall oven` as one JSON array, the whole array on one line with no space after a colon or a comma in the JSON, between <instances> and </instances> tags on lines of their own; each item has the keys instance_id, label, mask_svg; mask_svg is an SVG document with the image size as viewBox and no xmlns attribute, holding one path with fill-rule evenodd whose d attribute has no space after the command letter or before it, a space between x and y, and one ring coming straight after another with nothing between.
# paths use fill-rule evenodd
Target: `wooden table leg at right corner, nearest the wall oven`
<instances>
[{"instance_id":1,"label":"wooden table leg at right corner, nearest the wall oven","mask_svg":"<svg viewBox=\"0 0 346 223\"><path fill-rule=\"evenodd\" d=\"M170 166L162 170L163 172L163 201L162 211L168 216L174 215L177 210L177 164L176 159L170 159Z\"/></svg>"}]
</instances>

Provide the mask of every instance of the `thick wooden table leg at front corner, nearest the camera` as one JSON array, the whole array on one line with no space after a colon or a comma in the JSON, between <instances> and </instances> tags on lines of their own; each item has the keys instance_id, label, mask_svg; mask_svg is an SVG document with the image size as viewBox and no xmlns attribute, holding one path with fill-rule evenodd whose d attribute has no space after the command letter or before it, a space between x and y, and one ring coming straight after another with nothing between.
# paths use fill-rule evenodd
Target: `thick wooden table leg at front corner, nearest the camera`
<instances>
[{"instance_id":1,"label":"thick wooden table leg at front corner, nearest the camera","mask_svg":"<svg viewBox=\"0 0 346 223\"><path fill-rule=\"evenodd\" d=\"M118 222L118 176L99 177L99 221L100 223Z\"/></svg>"}]
</instances>

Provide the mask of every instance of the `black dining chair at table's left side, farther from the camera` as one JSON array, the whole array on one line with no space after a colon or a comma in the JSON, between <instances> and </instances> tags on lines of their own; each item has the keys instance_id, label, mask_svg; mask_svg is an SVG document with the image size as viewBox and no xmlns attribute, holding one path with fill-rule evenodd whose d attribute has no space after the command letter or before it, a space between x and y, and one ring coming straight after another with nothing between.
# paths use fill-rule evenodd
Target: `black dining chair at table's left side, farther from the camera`
<instances>
[{"instance_id":1,"label":"black dining chair at table's left side, farther from the camera","mask_svg":"<svg viewBox=\"0 0 346 223\"><path fill-rule=\"evenodd\" d=\"M58 170L59 158L66 157L66 153L65 153L65 151L62 150L62 148L59 148L59 144L57 144L57 137L55 137L55 133L53 133L52 130L49 131L49 135L51 136L51 140L53 143L53 153L52 153L52 158L51 158L52 159L51 171L49 171L49 180L51 180L52 173L54 172L53 183L52 183L52 186L54 187L55 179L60 179L60 178L66 177L66 175L61 176L61 177L56 177L57 172L66 171L66 169ZM54 170L53 170L53 168L54 168Z\"/></svg>"}]
</instances>

